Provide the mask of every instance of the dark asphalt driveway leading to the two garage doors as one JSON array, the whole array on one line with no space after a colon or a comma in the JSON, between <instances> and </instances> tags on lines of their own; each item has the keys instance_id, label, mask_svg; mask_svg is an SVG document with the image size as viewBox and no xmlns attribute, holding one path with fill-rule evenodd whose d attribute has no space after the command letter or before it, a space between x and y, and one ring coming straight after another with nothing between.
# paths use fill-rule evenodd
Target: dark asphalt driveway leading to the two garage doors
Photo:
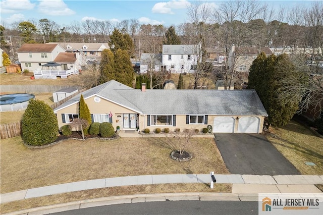
<instances>
[{"instance_id":1,"label":"dark asphalt driveway leading to the two garage doors","mask_svg":"<svg viewBox=\"0 0 323 215\"><path fill-rule=\"evenodd\" d=\"M261 134L214 134L231 174L300 175Z\"/></svg>"}]
</instances>

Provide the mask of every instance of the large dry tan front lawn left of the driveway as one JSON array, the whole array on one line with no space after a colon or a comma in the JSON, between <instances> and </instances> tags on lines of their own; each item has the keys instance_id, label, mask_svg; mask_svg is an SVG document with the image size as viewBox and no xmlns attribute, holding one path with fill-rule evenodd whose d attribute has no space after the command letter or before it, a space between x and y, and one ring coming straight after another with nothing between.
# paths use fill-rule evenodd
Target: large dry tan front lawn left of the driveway
<instances>
[{"instance_id":1,"label":"large dry tan front lawn left of the driveway","mask_svg":"<svg viewBox=\"0 0 323 215\"><path fill-rule=\"evenodd\" d=\"M228 174L212 138L193 138L189 162L170 158L165 138L66 140L29 149L21 137L1 140L1 193L132 175Z\"/></svg>"}]
</instances>

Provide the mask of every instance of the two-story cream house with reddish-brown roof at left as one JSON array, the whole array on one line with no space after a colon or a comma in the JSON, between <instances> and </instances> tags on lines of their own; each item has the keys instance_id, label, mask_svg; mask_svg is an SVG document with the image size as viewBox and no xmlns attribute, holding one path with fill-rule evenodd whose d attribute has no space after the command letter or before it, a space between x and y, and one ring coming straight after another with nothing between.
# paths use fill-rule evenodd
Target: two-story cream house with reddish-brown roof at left
<instances>
[{"instance_id":1,"label":"two-story cream house with reddish-brown roof at left","mask_svg":"<svg viewBox=\"0 0 323 215\"><path fill-rule=\"evenodd\" d=\"M41 69L41 66L48 62L53 62L59 53L65 49L59 44L23 44L18 50L18 60L21 69L33 72Z\"/></svg>"}]
</instances>

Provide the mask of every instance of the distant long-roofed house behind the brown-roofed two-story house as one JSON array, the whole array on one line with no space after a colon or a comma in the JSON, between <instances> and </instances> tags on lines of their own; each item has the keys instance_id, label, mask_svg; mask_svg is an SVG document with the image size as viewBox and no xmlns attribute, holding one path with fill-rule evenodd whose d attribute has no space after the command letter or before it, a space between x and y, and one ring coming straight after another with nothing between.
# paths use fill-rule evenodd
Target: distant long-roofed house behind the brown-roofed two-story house
<instances>
[{"instance_id":1,"label":"distant long-roofed house behind the brown-roofed two-story house","mask_svg":"<svg viewBox=\"0 0 323 215\"><path fill-rule=\"evenodd\" d=\"M49 42L54 43L54 42ZM82 43L82 42L56 42L60 44L67 52L79 51L86 59L99 58L103 49L109 49L107 43Z\"/></svg>"}]
</instances>

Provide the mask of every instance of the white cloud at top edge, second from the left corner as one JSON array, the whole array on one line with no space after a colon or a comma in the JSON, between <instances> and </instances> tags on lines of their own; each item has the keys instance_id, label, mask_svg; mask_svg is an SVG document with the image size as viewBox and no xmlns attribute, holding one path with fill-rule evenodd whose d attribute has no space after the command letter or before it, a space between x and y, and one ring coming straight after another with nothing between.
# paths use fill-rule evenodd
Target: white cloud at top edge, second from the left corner
<instances>
[{"instance_id":1,"label":"white cloud at top edge, second from the left corner","mask_svg":"<svg viewBox=\"0 0 323 215\"><path fill-rule=\"evenodd\" d=\"M50 16L70 16L75 14L75 11L69 9L63 0L40 0L38 11Z\"/></svg>"}]
</instances>

